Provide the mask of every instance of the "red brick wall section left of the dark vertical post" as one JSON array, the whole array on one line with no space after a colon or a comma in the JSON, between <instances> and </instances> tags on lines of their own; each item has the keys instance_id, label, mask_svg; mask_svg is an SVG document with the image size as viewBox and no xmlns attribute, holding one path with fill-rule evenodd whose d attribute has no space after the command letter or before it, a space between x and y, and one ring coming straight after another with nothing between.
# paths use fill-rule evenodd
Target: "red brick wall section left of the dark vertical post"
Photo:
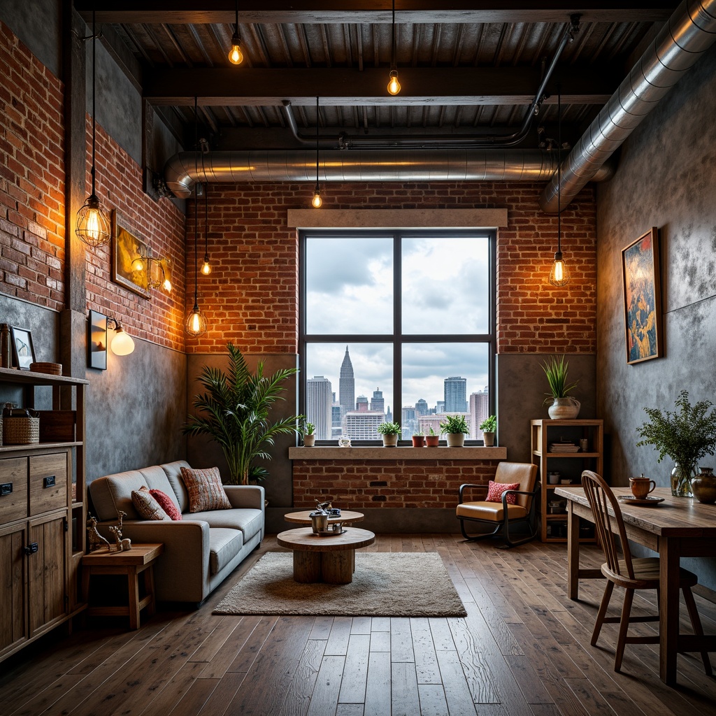
<instances>
[{"instance_id":1,"label":"red brick wall section left of the dark vertical post","mask_svg":"<svg viewBox=\"0 0 716 716\"><path fill-rule=\"evenodd\" d=\"M0 22L0 291L64 306L64 85Z\"/></svg>"}]
</instances>

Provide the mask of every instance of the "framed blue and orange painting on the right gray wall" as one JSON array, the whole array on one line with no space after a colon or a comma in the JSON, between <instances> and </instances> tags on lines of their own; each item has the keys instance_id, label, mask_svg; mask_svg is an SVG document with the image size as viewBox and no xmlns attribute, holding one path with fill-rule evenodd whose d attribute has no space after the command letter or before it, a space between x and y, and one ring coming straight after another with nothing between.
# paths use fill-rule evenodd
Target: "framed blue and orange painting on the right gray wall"
<instances>
[{"instance_id":1,"label":"framed blue and orange painting on the right gray wall","mask_svg":"<svg viewBox=\"0 0 716 716\"><path fill-rule=\"evenodd\" d=\"M662 356L659 232L652 226L621 251L627 363Z\"/></svg>"}]
</instances>

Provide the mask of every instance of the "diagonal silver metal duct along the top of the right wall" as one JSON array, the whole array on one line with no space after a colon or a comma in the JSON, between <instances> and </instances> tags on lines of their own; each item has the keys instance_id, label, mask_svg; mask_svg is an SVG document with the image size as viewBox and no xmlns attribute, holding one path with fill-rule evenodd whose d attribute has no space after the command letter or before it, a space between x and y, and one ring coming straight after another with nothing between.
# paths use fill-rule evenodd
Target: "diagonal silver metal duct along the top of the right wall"
<instances>
[{"instance_id":1,"label":"diagonal silver metal duct along the top of the right wall","mask_svg":"<svg viewBox=\"0 0 716 716\"><path fill-rule=\"evenodd\" d=\"M715 41L716 0L684 0L564 161L561 208L594 179L601 165ZM556 178L546 186L540 206L548 213L559 211Z\"/></svg>"}]
</instances>

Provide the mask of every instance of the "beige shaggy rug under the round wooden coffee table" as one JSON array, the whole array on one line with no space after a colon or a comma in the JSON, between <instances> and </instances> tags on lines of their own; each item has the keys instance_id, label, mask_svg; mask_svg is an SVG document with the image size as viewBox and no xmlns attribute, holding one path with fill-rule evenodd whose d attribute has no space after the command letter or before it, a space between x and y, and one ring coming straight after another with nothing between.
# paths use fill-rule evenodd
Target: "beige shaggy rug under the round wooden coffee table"
<instances>
[{"instance_id":1,"label":"beige shaggy rug under the round wooden coffee table","mask_svg":"<svg viewBox=\"0 0 716 716\"><path fill-rule=\"evenodd\" d=\"M299 584L293 555L269 552L213 614L466 616L437 552L357 552L351 584Z\"/></svg>"}]
</instances>

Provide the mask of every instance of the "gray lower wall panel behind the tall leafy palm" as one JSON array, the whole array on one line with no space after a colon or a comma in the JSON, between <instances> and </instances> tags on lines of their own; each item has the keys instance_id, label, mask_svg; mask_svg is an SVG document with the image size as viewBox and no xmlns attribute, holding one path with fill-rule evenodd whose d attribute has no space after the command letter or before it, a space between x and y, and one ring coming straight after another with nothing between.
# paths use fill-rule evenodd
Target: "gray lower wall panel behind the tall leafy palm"
<instances>
[{"instance_id":1,"label":"gray lower wall panel behind the tall leafy palm","mask_svg":"<svg viewBox=\"0 0 716 716\"><path fill-rule=\"evenodd\" d=\"M299 365L299 358L296 354L245 354L248 366L253 370L259 360L263 360L263 374L270 375L282 368L296 368ZM192 402L194 396L203 392L198 382L198 377L205 365L218 367L226 370L228 367L228 354L208 355L193 354L187 356L187 382L186 395L189 410L193 410ZM298 384L294 376L286 383L286 391L281 395L285 400L279 400L274 409L269 413L272 422L280 420L288 415L296 415L298 412ZM291 507L294 501L291 461L289 460L289 448L297 445L295 435L282 435L276 439L274 445L268 452L271 460L257 463L269 470L269 478L262 483L266 490L266 499L272 508ZM187 440L187 460L195 468L212 468L218 466L222 475L227 473L226 460L224 460L221 448L216 442L211 442L207 437L198 435L189 437Z\"/></svg>"}]
</instances>

